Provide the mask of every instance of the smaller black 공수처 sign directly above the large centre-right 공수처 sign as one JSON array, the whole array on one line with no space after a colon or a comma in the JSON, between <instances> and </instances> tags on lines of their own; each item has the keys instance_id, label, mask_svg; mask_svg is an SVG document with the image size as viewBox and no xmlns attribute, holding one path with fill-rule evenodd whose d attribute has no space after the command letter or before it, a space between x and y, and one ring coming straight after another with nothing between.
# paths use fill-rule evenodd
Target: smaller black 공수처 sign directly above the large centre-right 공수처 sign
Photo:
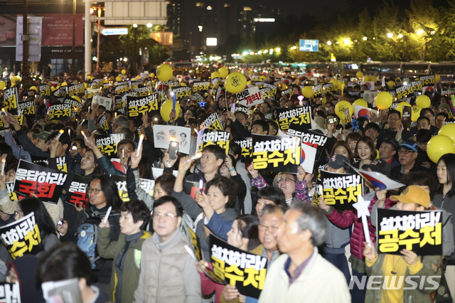
<instances>
[{"instance_id":1,"label":"smaller black \uacf5\uc218\ucc98 sign directly above the large centre-right \uacf5\uc218\ucc98 sign","mask_svg":"<svg viewBox=\"0 0 455 303\"><path fill-rule=\"evenodd\" d=\"M311 107L277 108L279 128L289 129L289 124L296 124L297 129L311 129Z\"/></svg>"}]
</instances>

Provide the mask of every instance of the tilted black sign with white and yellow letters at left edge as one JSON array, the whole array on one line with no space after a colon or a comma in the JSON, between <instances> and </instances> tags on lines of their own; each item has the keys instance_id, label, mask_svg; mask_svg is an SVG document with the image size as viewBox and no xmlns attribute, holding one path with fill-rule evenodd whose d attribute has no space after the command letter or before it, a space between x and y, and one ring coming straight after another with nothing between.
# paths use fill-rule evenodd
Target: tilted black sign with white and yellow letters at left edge
<instances>
[{"instance_id":1,"label":"tilted black sign with white and yellow letters at left edge","mask_svg":"<svg viewBox=\"0 0 455 303\"><path fill-rule=\"evenodd\" d=\"M23 255L36 255L44 250L33 211L19 220L1 226L0 237L13 260Z\"/></svg>"}]
</instances>

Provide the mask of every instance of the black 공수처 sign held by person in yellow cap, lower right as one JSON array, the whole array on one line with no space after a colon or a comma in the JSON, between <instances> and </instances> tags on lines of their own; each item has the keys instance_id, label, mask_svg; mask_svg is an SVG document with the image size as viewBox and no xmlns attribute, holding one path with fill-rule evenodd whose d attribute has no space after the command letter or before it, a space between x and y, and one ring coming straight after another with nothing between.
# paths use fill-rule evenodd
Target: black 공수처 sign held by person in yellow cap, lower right
<instances>
[{"instance_id":1,"label":"black \uacf5\uc218\ucc98 sign held by person in yellow cap, lower right","mask_svg":"<svg viewBox=\"0 0 455 303\"><path fill-rule=\"evenodd\" d=\"M442 255L442 211L397 211L378 208L378 252Z\"/></svg>"}]
</instances>

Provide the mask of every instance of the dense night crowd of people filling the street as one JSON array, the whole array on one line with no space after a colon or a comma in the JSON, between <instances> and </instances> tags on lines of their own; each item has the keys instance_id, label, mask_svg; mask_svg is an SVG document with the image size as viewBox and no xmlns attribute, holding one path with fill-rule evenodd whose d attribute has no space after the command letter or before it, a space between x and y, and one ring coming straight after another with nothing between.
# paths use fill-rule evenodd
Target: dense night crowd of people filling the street
<instances>
[{"instance_id":1,"label":"dense night crowd of people filling the street","mask_svg":"<svg viewBox=\"0 0 455 303\"><path fill-rule=\"evenodd\" d=\"M191 86L184 77L187 71L174 70L176 74L183 76L178 79L179 85ZM255 73L245 70L245 75L250 80ZM345 78L343 90L307 98L302 87L308 79L287 73L280 80L270 73L262 84L274 85L287 79L289 85L280 83L274 97L265 97L262 104L246 112L231 110L237 104L235 94L211 94L218 85L223 86L218 83L205 95L201 93L202 100L188 97L179 101L180 111L172 110L164 114L166 117L144 112L138 119L128 115L127 109L116 107L118 77L106 75L101 83L108 85L101 87L95 86L90 76L79 80L86 89L99 87L96 94L111 98L112 107L92 103L87 91L78 93L83 107L73 117L58 122L48 117L48 107L58 100L53 94L44 96L40 87L51 85L54 92L78 83L77 79L36 78L32 87L25 89L20 80L11 83L6 78L1 85L4 102L4 90L18 87L18 100L33 101L36 112L36 118L27 116L23 120L11 112L1 116L4 172L0 176L0 228L33 213L43 248L36 255L13 258L0 245L0 279L19 283L21 302L44 302L41 284L74 278L83 303L423 303L434 302L435 297L436 302L451 302L455 297L455 154L444 154L437 163L427 155L429 140L444 124L454 122L449 119L454 108L441 92L425 93L431 106L422 108L407 129L402 112L393 108L358 117L358 127L353 127L343 122L344 114L340 117L335 107L341 101L352 104L363 95L365 87L359 80ZM210 71L200 71L197 77L210 81ZM331 79L318 80L328 83ZM135 89L155 87L159 81L153 74L141 80ZM377 81L375 90L390 90L382 83ZM163 94L172 100L168 90ZM407 102L415 105L416 97L407 97ZM303 166L296 173L255 169L235 142L252 135L286 136L287 129L279 127L277 109L303 106L311 107L311 130L327 137L314 170L305 171ZM368 107L375 108L373 103ZM230 133L229 147L223 149L215 142L203 147L199 157L193 156L198 129L213 112L220 117L224 131ZM107 120L107 129L102 117ZM156 148L157 125L190 128L190 137L181 134L190 144L190 153L172 156L170 151ZM118 164L97 147L95 136L106 134L123 135L117 143ZM139 143L141 135L144 141ZM18 161L38 163L36 159L41 159L40 165L59 169L60 158L64 158L68 176L89 180L85 207L64 202L69 184L65 184L56 204L34 195L22 199L11 195L7 185L17 181ZM154 176L152 168L161 169L160 175ZM366 229L356 209L333 208L319 190L321 171L347 174L354 169L378 172L404 185L392 191L365 185L362 194L371 201ZM114 176L126 176L129 201L124 202L119 195ZM153 195L141 187L143 179L154 180ZM205 187L193 196L185 189L187 181L201 182ZM397 255L380 253L376 243L376 213L380 208L443 211L442 254L419 256L412 250ZM81 228L87 223L97 226L95 258L79 245ZM193 245L189 230L199 240L199 265L185 248ZM259 298L240 293L235 285L216 283L205 274L213 269L209 235L267 258L267 275L259 287ZM408 276L417 277L419 287L410 287L408 280L400 287L387 287L392 277L395 283L398 277ZM433 277L436 288L431 287L427 276ZM378 277L374 287L370 282L363 287L353 283L370 277Z\"/></svg>"}]
</instances>

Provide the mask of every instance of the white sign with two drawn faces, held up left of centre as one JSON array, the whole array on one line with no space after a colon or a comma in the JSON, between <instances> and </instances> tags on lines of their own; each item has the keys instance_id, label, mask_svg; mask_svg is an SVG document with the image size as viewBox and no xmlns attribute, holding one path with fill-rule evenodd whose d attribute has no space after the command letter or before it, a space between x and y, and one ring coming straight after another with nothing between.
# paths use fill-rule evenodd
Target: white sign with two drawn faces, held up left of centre
<instances>
[{"instance_id":1,"label":"white sign with two drawn faces, held up left of centre","mask_svg":"<svg viewBox=\"0 0 455 303\"><path fill-rule=\"evenodd\" d=\"M154 125L154 144L158 149L168 149L171 141L178 142L178 151L190 154L191 129L173 125Z\"/></svg>"}]
</instances>

